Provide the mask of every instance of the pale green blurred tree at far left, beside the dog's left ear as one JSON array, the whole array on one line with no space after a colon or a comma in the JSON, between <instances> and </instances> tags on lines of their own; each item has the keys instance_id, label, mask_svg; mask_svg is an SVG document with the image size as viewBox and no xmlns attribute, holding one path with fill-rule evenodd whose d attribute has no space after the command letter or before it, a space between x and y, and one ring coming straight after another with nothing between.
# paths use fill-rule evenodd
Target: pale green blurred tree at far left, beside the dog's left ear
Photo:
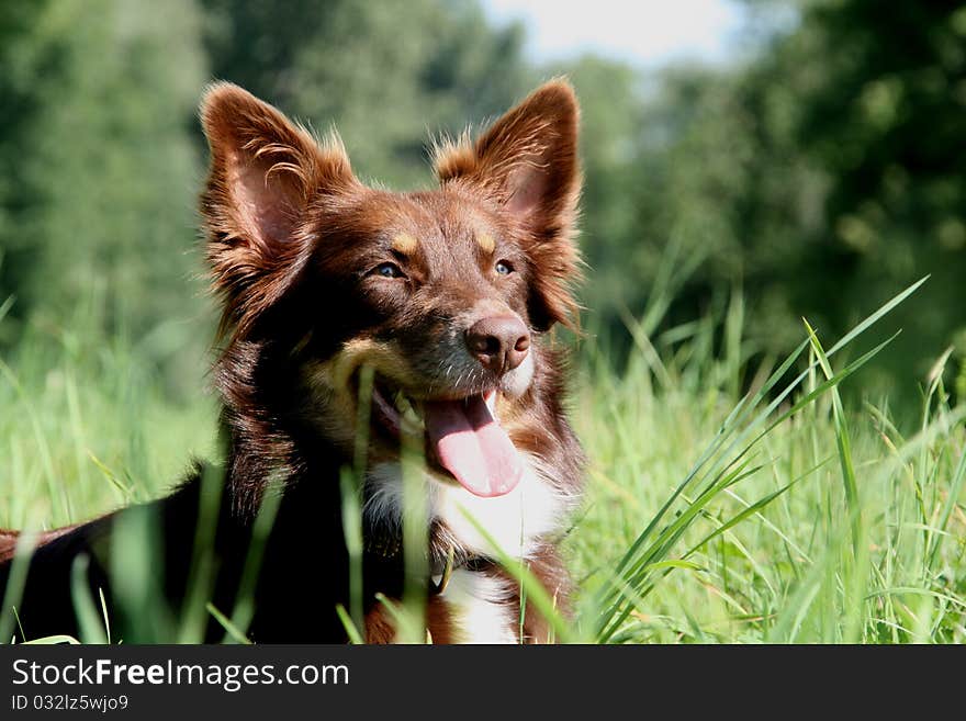
<instances>
[{"instance_id":1,"label":"pale green blurred tree at far left, beside the dog's left ear","mask_svg":"<svg viewBox=\"0 0 966 721\"><path fill-rule=\"evenodd\" d=\"M14 99L0 116L0 247L13 261L3 293L55 325L99 293L103 327L137 335L196 314L184 292L200 269L189 121L204 58L192 1L13 8L0 31L12 35L2 82Z\"/></svg>"}]
</instances>

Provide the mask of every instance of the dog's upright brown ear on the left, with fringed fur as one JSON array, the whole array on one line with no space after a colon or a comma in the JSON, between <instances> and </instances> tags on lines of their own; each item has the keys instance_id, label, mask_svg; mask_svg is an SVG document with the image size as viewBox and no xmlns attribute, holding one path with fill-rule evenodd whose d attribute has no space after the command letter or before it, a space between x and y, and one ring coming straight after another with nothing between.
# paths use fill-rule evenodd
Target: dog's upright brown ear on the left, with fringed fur
<instances>
[{"instance_id":1,"label":"dog's upright brown ear on the left, with fringed fur","mask_svg":"<svg viewBox=\"0 0 966 721\"><path fill-rule=\"evenodd\" d=\"M319 146L303 127L242 88L218 82L201 103L211 169L201 198L222 330L244 333L291 284L311 251L306 210L319 194L356 184L333 135Z\"/></svg>"}]
</instances>

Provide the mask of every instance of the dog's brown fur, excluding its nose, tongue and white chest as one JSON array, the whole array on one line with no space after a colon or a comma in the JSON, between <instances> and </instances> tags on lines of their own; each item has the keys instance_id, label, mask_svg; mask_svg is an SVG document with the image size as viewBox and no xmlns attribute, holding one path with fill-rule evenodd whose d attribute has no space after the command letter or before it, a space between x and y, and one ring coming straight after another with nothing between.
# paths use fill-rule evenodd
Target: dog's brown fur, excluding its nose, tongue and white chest
<instances>
[{"instance_id":1,"label":"dog's brown fur, excluding its nose, tongue and white chest","mask_svg":"<svg viewBox=\"0 0 966 721\"><path fill-rule=\"evenodd\" d=\"M274 482L284 489L256 585L254 640L345 639L334 610L348 606L339 477L353 459L357 414L353 391L345 386L362 363L414 398L459 399L499 388L501 425L516 448L540 460L560 495L577 496L583 455L563 407L565 359L544 333L555 323L576 323L577 120L571 87L551 81L475 142L439 145L438 190L391 193L356 179L337 137L319 144L235 86L209 89L201 121L211 169L201 211L212 286L223 304L214 380L227 446L214 542L218 608L232 608L267 487ZM497 261L510 270L497 273ZM400 275L377 272L386 264ZM530 334L536 372L523 390L467 352L468 328L493 315L519 318ZM454 363L462 364L459 372ZM397 459L398 442L379 431L373 426L370 463ZM147 507L164 529L172 609L187 601L201 475L192 472L176 493ZM80 553L92 557L92 589L106 588L110 598L110 564L96 540L110 536L115 518L42 537L21 615L29 633L69 632L65 579ZM502 573L454 538L445 520L433 523L434 563L453 547L458 563ZM386 541L385 529L369 526L364 534L364 633L385 642L393 630L375 594L402 593L402 560L386 551L398 539ZM570 586L553 542L540 538L528 563L566 608ZM0 533L0 587L15 543L15 534ZM316 579L311 588L306 574ZM518 616L519 599L507 604ZM429 595L434 642L453 640L449 612L445 598ZM137 640L131 621L126 638ZM213 624L209 634L216 639L220 629ZM549 638L546 621L529 609L524 635Z\"/></svg>"}]
</instances>

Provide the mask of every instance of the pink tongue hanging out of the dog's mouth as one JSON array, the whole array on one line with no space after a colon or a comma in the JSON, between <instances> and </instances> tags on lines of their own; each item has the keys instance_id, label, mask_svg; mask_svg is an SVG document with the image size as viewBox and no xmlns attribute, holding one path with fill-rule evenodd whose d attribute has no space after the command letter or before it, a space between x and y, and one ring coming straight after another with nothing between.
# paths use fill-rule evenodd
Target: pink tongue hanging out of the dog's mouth
<instances>
[{"instance_id":1,"label":"pink tongue hanging out of the dog's mouth","mask_svg":"<svg viewBox=\"0 0 966 721\"><path fill-rule=\"evenodd\" d=\"M472 494L513 491L524 473L517 449L482 395L425 405L426 435L442 466Z\"/></svg>"}]
</instances>

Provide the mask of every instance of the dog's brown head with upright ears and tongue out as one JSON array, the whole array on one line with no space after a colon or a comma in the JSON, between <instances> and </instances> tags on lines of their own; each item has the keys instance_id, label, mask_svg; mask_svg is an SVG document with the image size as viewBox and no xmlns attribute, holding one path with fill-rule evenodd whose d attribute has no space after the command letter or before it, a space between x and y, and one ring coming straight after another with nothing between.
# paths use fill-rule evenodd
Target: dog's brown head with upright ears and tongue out
<instances>
[{"instance_id":1,"label":"dog's brown head with upright ears and tongue out","mask_svg":"<svg viewBox=\"0 0 966 721\"><path fill-rule=\"evenodd\" d=\"M202 121L229 343L284 347L301 413L347 451L372 378L371 462L398 458L401 432L422 425L439 474L476 496L513 489L539 336L575 311L570 86L542 86L475 142L440 144L426 192L362 184L334 135L318 142L235 86L211 88Z\"/></svg>"}]
</instances>

